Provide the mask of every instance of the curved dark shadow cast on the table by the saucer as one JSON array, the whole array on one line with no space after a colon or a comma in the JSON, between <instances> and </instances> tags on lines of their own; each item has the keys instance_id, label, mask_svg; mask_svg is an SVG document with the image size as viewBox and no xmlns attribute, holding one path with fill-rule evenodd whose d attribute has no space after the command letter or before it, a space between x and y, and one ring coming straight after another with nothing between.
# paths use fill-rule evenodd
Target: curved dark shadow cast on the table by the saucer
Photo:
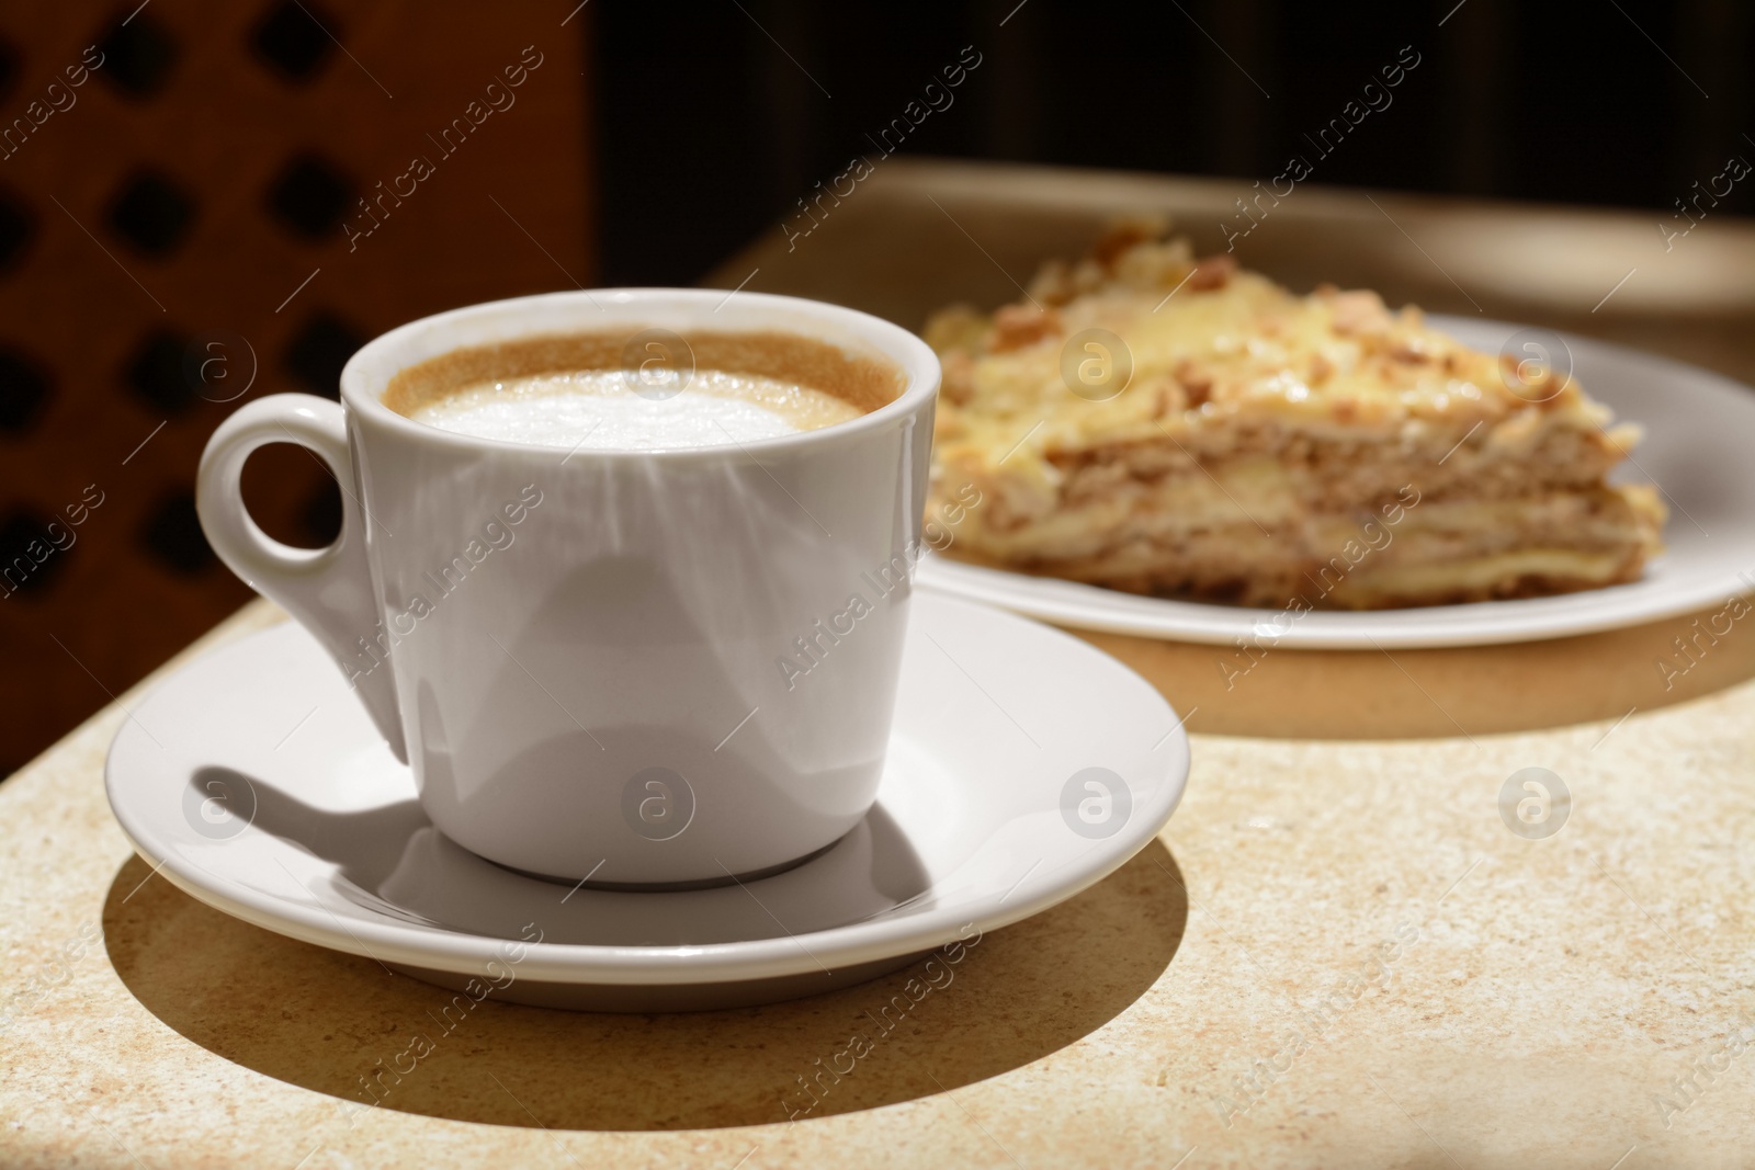
<instances>
[{"instance_id":1,"label":"curved dark shadow cast on the table by the saucer","mask_svg":"<svg viewBox=\"0 0 1755 1170\"><path fill-rule=\"evenodd\" d=\"M611 1016L490 998L446 1033L435 1021L449 991L249 926L149 875L132 858L104 905L109 958L128 989L207 1051L333 1096L340 1124L374 1100L488 1124L695 1130L930 1096L1102 1028L1157 982L1188 919L1176 861L1153 840L1071 902L985 935L951 982L906 1016L892 1009L888 1021L900 1023L888 1031L878 1017L893 996L907 1002L920 963L720 1012ZM853 1072L825 1072L848 1067L837 1054L855 1035L870 1047ZM432 1044L418 1058L416 1037Z\"/></svg>"}]
</instances>

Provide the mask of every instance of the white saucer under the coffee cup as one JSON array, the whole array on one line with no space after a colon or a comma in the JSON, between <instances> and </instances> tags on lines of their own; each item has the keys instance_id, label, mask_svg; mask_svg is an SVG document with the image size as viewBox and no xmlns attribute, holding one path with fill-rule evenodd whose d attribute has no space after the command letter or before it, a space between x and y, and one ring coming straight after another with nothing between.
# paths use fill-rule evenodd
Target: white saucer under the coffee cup
<instances>
[{"instance_id":1,"label":"white saucer under the coffee cup","mask_svg":"<svg viewBox=\"0 0 1755 1170\"><path fill-rule=\"evenodd\" d=\"M1186 777L1178 717L1139 675L928 595L878 807L827 853L744 886L569 889L451 844L293 623L160 684L107 765L123 831L195 898L444 986L591 1010L813 995L1028 917L1146 845Z\"/></svg>"}]
</instances>

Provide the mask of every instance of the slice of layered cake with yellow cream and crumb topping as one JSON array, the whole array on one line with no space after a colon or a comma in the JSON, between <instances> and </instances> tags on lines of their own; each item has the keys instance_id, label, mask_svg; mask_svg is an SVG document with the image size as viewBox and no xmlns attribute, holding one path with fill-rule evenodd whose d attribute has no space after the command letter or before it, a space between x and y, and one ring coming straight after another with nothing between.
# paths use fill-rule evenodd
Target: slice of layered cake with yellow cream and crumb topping
<instances>
[{"instance_id":1,"label":"slice of layered cake with yellow cream and crumb topping","mask_svg":"<svg viewBox=\"0 0 1755 1170\"><path fill-rule=\"evenodd\" d=\"M1660 551L1657 493L1606 482L1639 428L1611 426L1567 361L1478 353L1371 291L1297 296L1151 225L925 335L953 556L1381 609L1594 589Z\"/></svg>"}]
</instances>

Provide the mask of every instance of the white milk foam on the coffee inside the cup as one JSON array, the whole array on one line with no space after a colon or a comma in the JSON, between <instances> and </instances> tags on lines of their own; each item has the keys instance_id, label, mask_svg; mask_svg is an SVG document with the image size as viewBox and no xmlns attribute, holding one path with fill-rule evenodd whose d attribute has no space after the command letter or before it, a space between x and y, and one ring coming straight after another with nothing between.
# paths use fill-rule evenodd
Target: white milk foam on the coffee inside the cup
<instances>
[{"instance_id":1,"label":"white milk foam on the coffee inside the cup","mask_svg":"<svg viewBox=\"0 0 1755 1170\"><path fill-rule=\"evenodd\" d=\"M777 439L860 417L849 402L756 374L697 370L686 386L628 370L574 370L462 386L411 417L541 447L674 451Z\"/></svg>"}]
</instances>

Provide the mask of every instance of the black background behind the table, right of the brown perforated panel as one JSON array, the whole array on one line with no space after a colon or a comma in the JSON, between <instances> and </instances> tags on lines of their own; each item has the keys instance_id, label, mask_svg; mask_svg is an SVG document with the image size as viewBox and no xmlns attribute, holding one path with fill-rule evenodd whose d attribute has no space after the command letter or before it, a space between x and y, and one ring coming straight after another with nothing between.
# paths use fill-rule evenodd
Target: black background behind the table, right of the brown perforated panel
<instances>
[{"instance_id":1,"label":"black background behind the table, right of the brown perforated panel","mask_svg":"<svg viewBox=\"0 0 1755 1170\"><path fill-rule=\"evenodd\" d=\"M1313 182L1673 212L1729 154L1755 161L1736 0L591 9L605 284L690 282L797 212L963 46L983 65L907 153L1269 179L1413 46L1388 116Z\"/></svg>"}]
</instances>

